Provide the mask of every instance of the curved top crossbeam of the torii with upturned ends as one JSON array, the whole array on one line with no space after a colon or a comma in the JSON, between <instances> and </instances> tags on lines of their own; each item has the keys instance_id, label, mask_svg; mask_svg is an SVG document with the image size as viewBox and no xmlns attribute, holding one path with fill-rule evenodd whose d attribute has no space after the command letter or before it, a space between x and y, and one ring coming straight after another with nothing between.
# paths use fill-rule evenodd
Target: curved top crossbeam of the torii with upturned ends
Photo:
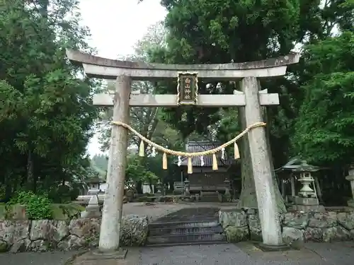
<instances>
[{"instance_id":1,"label":"curved top crossbeam of the torii with upturned ends","mask_svg":"<svg viewBox=\"0 0 354 265\"><path fill-rule=\"evenodd\" d=\"M232 81L236 78L283 76L288 64L296 64L299 54L292 53L262 61L231 64L149 64L142 61L105 59L67 49L67 57L73 64L84 67L85 73L94 78L115 79L130 76L132 80L176 78L178 72L198 71L198 78Z\"/></svg>"}]
</instances>

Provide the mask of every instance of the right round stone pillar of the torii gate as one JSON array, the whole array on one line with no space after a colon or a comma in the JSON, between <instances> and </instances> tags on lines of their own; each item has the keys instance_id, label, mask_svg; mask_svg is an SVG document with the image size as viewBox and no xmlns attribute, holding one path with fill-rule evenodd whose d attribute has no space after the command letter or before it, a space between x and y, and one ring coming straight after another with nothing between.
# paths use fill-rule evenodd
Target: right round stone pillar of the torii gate
<instances>
[{"instance_id":1,"label":"right round stone pillar of the torii gate","mask_svg":"<svg viewBox=\"0 0 354 265\"><path fill-rule=\"evenodd\" d=\"M258 98L258 81L255 77L245 77L241 88L246 98L246 126L262 122L262 110ZM252 170L256 187L259 218L261 220L263 244L282 246L282 233L278 208L275 201L273 175L268 155L265 128L257 127L249 132Z\"/></svg>"}]
</instances>

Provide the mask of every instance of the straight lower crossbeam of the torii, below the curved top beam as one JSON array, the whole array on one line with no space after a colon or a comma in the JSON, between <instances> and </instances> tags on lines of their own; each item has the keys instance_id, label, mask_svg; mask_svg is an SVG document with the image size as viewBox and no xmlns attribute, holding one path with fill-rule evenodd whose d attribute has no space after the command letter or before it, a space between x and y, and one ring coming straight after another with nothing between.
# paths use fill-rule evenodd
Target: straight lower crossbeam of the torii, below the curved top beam
<instances>
[{"instance_id":1,"label":"straight lower crossbeam of the torii, below the curved top beam","mask_svg":"<svg viewBox=\"0 0 354 265\"><path fill-rule=\"evenodd\" d=\"M93 95L93 105L100 107L113 107L114 95ZM279 105L279 95L259 93L261 105ZM236 95L198 95L200 107L236 107L244 106L245 96L243 93ZM152 95L130 94L130 107L178 107L177 95Z\"/></svg>"}]
</instances>

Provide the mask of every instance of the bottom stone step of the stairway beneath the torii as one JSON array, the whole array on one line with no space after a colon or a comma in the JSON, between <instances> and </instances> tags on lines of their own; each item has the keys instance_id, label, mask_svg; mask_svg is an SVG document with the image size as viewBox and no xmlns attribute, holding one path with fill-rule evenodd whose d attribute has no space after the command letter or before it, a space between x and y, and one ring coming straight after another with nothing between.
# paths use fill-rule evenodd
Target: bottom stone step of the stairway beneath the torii
<instances>
[{"instance_id":1,"label":"bottom stone step of the stairway beneath the torii","mask_svg":"<svg viewBox=\"0 0 354 265\"><path fill-rule=\"evenodd\" d=\"M147 237L147 245L166 245L199 242L226 242L223 234L198 232L189 235L157 235Z\"/></svg>"}]
</instances>

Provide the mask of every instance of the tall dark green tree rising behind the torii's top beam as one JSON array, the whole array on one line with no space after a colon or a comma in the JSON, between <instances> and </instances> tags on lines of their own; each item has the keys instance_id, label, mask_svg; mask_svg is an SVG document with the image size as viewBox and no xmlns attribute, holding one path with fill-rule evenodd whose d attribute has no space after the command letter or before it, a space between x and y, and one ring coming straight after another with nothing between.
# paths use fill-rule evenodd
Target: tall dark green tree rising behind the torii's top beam
<instances>
[{"instance_id":1,"label":"tall dark green tree rising behind the torii's top beam","mask_svg":"<svg viewBox=\"0 0 354 265\"><path fill-rule=\"evenodd\" d=\"M254 61L287 54L298 39L299 1L166 0L162 3L169 11L165 21L169 30L168 47L155 51L154 61L180 64ZM234 83L200 82L200 93L232 93L234 88ZM167 83L163 92L171 93L172 90L176 90L176 84ZM181 130L184 137L193 131L205 135L210 124L219 125L227 113L235 114L233 111L189 107L169 110L166 120ZM234 118L234 123L237 121L237 115L229 117ZM222 132L236 134L236 131L227 132L222 126L229 124L227 119L216 128L220 139ZM243 167L249 168L247 161L244 162ZM251 172L244 170L242 177L244 187L249 189L244 189L248 196L241 199L244 206L254 207L256 196ZM281 197L278 199L280 208L284 209Z\"/></svg>"}]
</instances>

